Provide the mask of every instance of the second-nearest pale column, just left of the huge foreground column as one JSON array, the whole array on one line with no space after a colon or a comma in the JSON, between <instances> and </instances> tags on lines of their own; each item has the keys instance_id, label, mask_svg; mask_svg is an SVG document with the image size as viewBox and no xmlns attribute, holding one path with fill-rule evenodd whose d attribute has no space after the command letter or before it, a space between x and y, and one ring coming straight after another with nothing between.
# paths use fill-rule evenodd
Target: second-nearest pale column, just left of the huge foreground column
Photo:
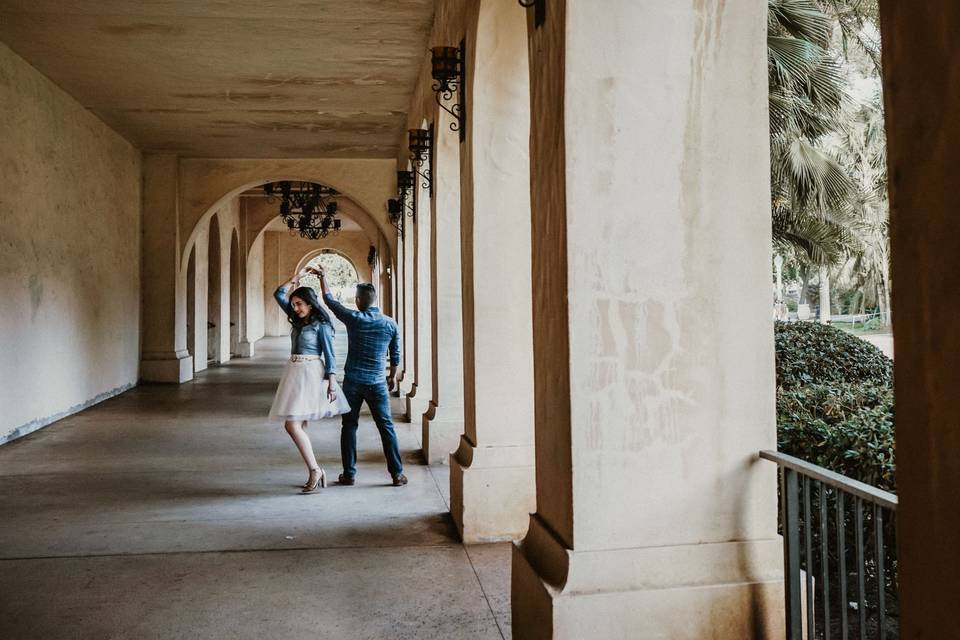
<instances>
[{"instance_id":1,"label":"second-nearest pale column, just left of the huge foreground column","mask_svg":"<svg viewBox=\"0 0 960 640\"><path fill-rule=\"evenodd\" d=\"M530 90L518 10L509 0L481 3L467 42L464 434L450 459L450 511L466 542L523 536L535 505Z\"/></svg>"}]
</instances>

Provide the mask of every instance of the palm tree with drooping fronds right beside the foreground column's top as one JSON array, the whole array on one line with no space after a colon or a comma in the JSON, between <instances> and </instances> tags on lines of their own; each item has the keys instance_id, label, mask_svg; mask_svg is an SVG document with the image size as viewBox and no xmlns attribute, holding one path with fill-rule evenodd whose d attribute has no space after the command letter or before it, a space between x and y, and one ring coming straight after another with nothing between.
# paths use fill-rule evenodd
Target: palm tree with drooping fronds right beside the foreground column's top
<instances>
[{"instance_id":1,"label":"palm tree with drooping fronds right beside the foreground column's top","mask_svg":"<svg viewBox=\"0 0 960 640\"><path fill-rule=\"evenodd\" d=\"M821 144L838 131L848 100L830 51L834 19L815 0L767 6L774 242L811 266L834 265L858 245L857 185Z\"/></svg>"}]
</instances>

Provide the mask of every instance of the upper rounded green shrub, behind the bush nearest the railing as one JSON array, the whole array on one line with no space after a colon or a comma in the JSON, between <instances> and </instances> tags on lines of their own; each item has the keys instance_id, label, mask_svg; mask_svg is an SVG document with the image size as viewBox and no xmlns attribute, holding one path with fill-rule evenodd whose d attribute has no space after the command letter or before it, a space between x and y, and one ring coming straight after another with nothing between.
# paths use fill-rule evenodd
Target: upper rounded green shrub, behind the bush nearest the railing
<instances>
[{"instance_id":1,"label":"upper rounded green shrub, behind the bush nearest the railing","mask_svg":"<svg viewBox=\"0 0 960 640\"><path fill-rule=\"evenodd\" d=\"M869 342L829 325L777 322L777 387L893 383L893 361Z\"/></svg>"}]
</instances>

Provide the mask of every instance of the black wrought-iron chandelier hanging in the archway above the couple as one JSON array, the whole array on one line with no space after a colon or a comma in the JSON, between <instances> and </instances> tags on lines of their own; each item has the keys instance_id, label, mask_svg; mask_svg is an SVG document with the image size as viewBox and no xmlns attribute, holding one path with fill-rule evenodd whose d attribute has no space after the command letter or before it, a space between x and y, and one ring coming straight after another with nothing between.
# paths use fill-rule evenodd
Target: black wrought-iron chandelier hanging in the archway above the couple
<instances>
[{"instance_id":1,"label":"black wrought-iron chandelier hanging in the archway above the couple","mask_svg":"<svg viewBox=\"0 0 960 640\"><path fill-rule=\"evenodd\" d=\"M316 182L268 182L263 185L267 202L280 200L280 217L291 233L303 238L319 240L331 232L340 231L337 215L339 195L331 187Z\"/></svg>"}]
</instances>

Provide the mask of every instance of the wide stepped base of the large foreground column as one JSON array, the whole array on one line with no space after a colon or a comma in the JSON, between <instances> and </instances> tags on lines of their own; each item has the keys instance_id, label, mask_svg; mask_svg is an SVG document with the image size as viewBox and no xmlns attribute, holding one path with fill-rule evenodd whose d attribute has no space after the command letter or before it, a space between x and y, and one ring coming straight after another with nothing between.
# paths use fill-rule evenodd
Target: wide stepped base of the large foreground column
<instances>
[{"instance_id":1,"label":"wide stepped base of the large foreground column","mask_svg":"<svg viewBox=\"0 0 960 640\"><path fill-rule=\"evenodd\" d=\"M517 640L784 637L779 538L572 551L534 515L513 548Z\"/></svg>"}]
</instances>

